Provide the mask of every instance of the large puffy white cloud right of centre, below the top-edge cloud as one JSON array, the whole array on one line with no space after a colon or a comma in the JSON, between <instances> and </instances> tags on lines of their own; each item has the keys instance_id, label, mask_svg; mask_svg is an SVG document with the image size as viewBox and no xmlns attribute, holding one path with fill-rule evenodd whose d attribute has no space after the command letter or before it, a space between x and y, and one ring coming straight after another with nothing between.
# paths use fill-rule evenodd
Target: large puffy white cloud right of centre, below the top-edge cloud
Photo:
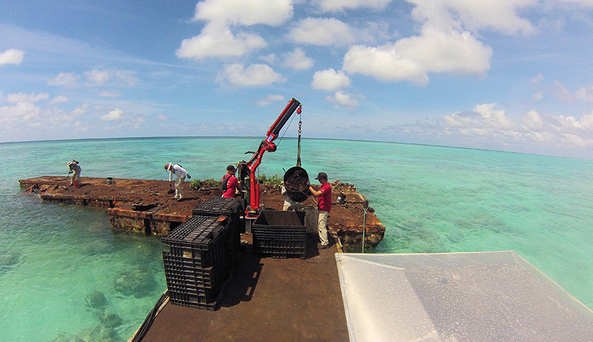
<instances>
[{"instance_id":1,"label":"large puffy white cloud right of centre, below the top-edge cloud","mask_svg":"<svg viewBox=\"0 0 593 342\"><path fill-rule=\"evenodd\" d=\"M381 47L351 47L342 69L382 81L428 83L428 73L483 75L490 67L492 48L469 32L424 27L421 36Z\"/></svg>"}]
</instances>

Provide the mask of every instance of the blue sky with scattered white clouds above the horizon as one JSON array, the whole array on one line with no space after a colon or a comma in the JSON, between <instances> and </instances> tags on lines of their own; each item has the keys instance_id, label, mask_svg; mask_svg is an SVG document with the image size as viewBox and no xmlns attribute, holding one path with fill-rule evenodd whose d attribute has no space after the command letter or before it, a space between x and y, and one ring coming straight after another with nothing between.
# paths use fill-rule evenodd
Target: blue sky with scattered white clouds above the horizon
<instances>
[{"instance_id":1,"label":"blue sky with scattered white clouds above the horizon","mask_svg":"<svg viewBox=\"0 0 593 342\"><path fill-rule=\"evenodd\" d=\"M593 0L0 0L0 142L262 136L593 160ZM298 116L282 135L298 134Z\"/></svg>"}]
</instances>

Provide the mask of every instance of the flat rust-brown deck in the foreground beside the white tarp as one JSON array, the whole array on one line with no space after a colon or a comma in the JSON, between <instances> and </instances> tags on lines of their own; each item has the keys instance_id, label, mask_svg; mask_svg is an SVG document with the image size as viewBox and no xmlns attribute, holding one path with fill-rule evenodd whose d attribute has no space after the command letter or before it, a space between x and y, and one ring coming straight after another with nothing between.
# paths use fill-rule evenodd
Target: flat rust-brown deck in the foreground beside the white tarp
<instances>
[{"instance_id":1,"label":"flat rust-brown deck in the foreground beside the white tarp","mask_svg":"<svg viewBox=\"0 0 593 342\"><path fill-rule=\"evenodd\" d=\"M314 236L304 260L254 254L248 244L217 311L167 303L142 341L348 341L338 251L317 250Z\"/></svg>"}]
</instances>

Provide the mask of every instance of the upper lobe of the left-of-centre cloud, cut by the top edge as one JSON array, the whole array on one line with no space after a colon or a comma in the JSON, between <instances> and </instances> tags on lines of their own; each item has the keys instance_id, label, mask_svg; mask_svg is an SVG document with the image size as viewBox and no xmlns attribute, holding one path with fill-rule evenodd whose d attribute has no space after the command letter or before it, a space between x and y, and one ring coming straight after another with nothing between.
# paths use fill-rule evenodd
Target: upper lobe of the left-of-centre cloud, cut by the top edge
<instances>
[{"instance_id":1,"label":"upper lobe of the left-of-centre cloud, cut by the top edge","mask_svg":"<svg viewBox=\"0 0 593 342\"><path fill-rule=\"evenodd\" d=\"M278 26L292 16L291 0L204 0L195 5L193 20L225 25Z\"/></svg>"}]
</instances>

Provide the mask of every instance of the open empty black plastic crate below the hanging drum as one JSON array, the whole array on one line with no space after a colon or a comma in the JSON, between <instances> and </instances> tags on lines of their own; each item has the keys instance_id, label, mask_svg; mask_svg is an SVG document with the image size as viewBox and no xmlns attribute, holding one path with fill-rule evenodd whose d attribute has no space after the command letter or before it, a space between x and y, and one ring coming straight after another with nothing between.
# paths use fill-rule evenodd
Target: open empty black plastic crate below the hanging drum
<instances>
[{"instance_id":1,"label":"open empty black plastic crate below the hanging drum","mask_svg":"<svg viewBox=\"0 0 593 342\"><path fill-rule=\"evenodd\" d=\"M273 258L306 258L304 211L264 210L252 225L254 251Z\"/></svg>"}]
</instances>

